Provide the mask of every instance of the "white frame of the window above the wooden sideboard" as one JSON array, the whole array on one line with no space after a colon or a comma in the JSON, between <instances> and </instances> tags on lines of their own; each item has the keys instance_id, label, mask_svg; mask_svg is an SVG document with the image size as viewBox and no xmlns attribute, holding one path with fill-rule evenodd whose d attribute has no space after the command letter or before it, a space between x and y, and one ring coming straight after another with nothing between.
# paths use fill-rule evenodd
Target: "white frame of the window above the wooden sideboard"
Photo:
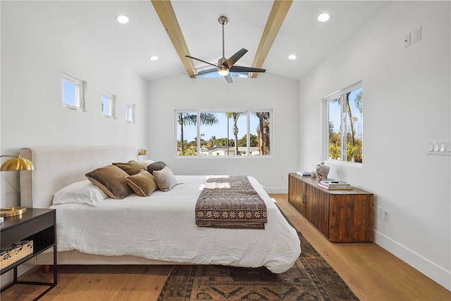
<instances>
[{"instance_id":1,"label":"white frame of the window above the wooden sideboard","mask_svg":"<svg viewBox=\"0 0 451 301\"><path fill-rule=\"evenodd\" d=\"M349 87L345 87L342 90L328 94L323 97L323 148L322 148L322 161L327 161L332 164L350 164L352 166L360 167L363 165L362 162L347 161L347 109L346 109L346 97L348 92L352 92L357 89L364 90L363 82L359 81ZM333 99L340 99L340 159L329 158L329 110L328 104ZM362 154L363 154L363 100L362 100ZM343 130L345 129L345 130Z\"/></svg>"}]
</instances>

